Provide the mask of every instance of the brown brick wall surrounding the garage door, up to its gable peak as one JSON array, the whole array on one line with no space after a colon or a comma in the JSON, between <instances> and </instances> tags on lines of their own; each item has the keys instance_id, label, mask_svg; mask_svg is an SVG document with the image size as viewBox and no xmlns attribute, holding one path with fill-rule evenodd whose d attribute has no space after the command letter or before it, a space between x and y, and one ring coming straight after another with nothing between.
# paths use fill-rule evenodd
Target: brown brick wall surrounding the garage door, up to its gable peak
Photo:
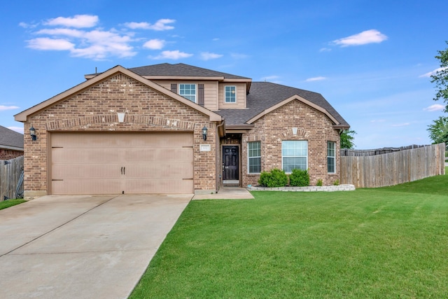
<instances>
[{"instance_id":1,"label":"brown brick wall surrounding the garage door, up to its gable peak","mask_svg":"<svg viewBox=\"0 0 448 299\"><path fill-rule=\"evenodd\" d=\"M117 113L125 113L124 123ZM125 74L115 74L29 117L37 140L25 138L25 196L50 193L48 167L51 132L170 132L188 131L194 136L194 188L216 190L216 123L209 116L153 90ZM202 140L202 127L209 129ZM200 151L209 144L211 151Z\"/></svg>"}]
</instances>

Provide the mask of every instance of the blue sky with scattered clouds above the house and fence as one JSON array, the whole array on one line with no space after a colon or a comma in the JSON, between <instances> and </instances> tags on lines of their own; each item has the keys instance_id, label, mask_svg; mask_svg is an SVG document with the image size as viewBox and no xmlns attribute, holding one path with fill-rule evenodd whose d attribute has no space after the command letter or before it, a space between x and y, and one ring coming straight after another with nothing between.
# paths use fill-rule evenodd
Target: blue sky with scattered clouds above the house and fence
<instances>
[{"instance_id":1,"label":"blue sky with scattered clouds above the house and fence","mask_svg":"<svg viewBox=\"0 0 448 299\"><path fill-rule=\"evenodd\" d=\"M321 93L358 149L430 144L448 1L8 1L0 125L120 64L185 63Z\"/></svg>"}]
</instances>

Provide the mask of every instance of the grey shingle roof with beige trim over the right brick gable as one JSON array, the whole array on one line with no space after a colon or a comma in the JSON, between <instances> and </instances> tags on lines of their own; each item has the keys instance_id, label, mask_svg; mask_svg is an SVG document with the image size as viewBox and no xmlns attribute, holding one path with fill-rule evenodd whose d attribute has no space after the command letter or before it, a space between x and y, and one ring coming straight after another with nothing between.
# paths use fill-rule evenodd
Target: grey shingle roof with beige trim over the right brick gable
<instances>
[{"instance_id":1,"label":"grey shingle roof with beige trim over the right brick gable","mask_svg":"<svg viewBox=\"0 0 448 299\"><path fill-rule=\"evenodd\" d=\"M266 113L297 99L325 113L337 128L349 128L349 124L319 93L269 82L253 82L247 95L247 109L221 109L217 113L227 125L251 124Z\"/></svg>"}]
</instances>

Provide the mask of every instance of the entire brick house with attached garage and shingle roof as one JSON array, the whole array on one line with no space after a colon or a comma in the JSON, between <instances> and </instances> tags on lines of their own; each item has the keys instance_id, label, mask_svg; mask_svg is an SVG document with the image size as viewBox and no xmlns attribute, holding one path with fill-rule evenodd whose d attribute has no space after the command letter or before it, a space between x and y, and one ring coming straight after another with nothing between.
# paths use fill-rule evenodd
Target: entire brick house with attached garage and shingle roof
<instances>
[{"instance_id":1,"label":"entire brick house with attached garage and shingle roof","mask_svg":"<svg viewBox=\"0 0 448 299\"><path fill-rule=\"evenodd\" d=\"M272 168L339 179L349 125L318 93L187 64L85 78L15 116L36 130L25 138L25 197L214 193Z\"/></svg>"}]
</instances>

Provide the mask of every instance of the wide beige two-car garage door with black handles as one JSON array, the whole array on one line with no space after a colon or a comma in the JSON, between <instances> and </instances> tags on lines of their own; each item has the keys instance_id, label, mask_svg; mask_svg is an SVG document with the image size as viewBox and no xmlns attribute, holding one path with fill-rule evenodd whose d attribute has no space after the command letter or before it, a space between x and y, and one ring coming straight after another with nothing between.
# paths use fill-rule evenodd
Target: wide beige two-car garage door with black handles
<instances>
[{"instance_id":1,"label":"wide beige two-car garage door with black handles","mask_svg":"<svg viewBox=\"0 0 448 299\"><path fill-rule=\"evenodd\" d=\"M55 195L193 193L193 134L53 133Z\"/></svg>"}]
</instances>

